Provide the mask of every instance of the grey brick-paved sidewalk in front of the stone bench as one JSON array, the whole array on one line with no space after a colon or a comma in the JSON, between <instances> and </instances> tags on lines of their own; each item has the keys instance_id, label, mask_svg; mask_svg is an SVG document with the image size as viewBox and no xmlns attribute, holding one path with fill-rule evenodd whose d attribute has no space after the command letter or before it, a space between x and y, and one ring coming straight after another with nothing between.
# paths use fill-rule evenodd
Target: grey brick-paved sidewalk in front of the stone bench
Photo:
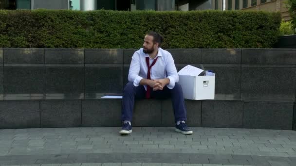
<instances>
[{"instance_id":1,"label":"grey brick-paved sidewalk in front of the stone bench","mask_svg":"<svg viewBox=\"0 0 296 166\"><path fill-rule=\"evenodd\" d=\"M296 131L172 127L0 130L0 165L296 166Z\"/></svg>"}]
</instances>

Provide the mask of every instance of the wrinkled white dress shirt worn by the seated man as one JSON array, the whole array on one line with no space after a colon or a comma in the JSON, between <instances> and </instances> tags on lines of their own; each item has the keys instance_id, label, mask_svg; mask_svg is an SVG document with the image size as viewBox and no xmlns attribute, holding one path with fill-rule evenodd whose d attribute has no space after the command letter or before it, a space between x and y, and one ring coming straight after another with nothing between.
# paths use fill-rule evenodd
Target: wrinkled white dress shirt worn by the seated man
<instances>
[{"instance_id":1,"label":"wrinkled white dress shirt worn by the seated man","mask_svg":"<svg viewBox=\"0 0 296 166\"><path fill-rule=\"evenodd\" d=\"M146 57L149 57L149 55L143 52L143 48L135 51L131 57L128 79L129 82L133 82L135 86L139 86L140 81L143 78L147 79L148 66L146 64ZM151 79L157 80L168 78L169 84L166 86L169 89L174 88L175 83L179 81L179 75L172 55L168 51L158 48L158 54L156 57L158 57L158 59L150 69ZM149 57L149 65L152 64L154 59ZM147 89L146 85L144 87Z\"/></svg>"}]
</instances>

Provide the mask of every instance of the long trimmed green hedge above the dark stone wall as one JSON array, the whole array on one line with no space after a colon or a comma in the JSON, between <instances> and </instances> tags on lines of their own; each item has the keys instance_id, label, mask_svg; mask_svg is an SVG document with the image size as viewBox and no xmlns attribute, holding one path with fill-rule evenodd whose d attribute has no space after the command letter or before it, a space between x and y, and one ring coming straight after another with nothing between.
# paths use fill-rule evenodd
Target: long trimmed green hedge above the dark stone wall
<instances>
[{"instance_id":1,"label":"long trimmed green hedge above the dark stone wall","mask_svg":"<svg viewBox=\"0 0 296 166\"><path fill-rule=\"evenodd\" d=\"M261 11L0 10L0 47L140 48L156 31L162 48L271 48L280 22Z\"/></svg>"}]
</instances>

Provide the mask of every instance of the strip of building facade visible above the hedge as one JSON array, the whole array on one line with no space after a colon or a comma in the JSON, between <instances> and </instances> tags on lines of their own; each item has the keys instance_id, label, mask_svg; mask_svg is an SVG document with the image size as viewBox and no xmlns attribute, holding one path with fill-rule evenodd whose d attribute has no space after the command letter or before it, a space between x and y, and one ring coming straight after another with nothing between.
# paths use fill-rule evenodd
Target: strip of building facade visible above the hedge
<instances>
[{"instance_id":1,"label":"strip of building facade visible above the hedge","mask_svg":"<svg viewBox=\"0 0 296 166\"><path fill-rule=\"evenodd\" d=\"M265 10L280 11L285 20L291 17L285 0L0 0L0 9L72 9L72 10Z\"/></svg>"}]
</instances>

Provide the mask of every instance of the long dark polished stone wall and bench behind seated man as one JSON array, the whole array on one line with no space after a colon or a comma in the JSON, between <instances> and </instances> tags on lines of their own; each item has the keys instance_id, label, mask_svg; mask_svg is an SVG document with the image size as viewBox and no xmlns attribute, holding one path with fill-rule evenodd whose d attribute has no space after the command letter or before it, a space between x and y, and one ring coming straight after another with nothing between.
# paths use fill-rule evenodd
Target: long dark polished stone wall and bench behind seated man
<instances>
[{"instance_id":1,"label":"long dark polished stone wall and bench behind seated man","mask_svg":"<svg viewBox=\"0 0 296 166\"><path fill-rule=\"evenodd\" d=\"M215 100L185 100L190 127L296 130L296 49L170 49L216 73ZM134 49L0 48L0 129L120 126ZM293 121L294 117L294 121ZM170 100L139 100L133 126L174 126Z\"/></svg>"}]
</instances>

